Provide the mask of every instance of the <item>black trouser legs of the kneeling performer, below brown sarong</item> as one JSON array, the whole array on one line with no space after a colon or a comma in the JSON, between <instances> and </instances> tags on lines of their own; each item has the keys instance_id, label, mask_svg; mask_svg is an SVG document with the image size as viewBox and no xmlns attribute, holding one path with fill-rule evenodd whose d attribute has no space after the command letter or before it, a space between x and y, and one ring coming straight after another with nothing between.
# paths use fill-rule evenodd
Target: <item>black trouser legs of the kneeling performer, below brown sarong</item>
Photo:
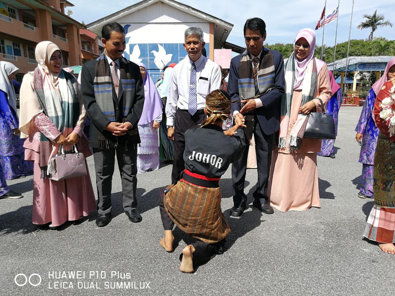
<instances>
[{"instance_id":1,"label":"black trouser legs of the kneeling performer, below brown sarong","mask_svg":"<svg viewBox=\"0 0 395 296\"><path fill-rule=\"evenodd\" d=\"M173 230L174 222L170 219L169 215L166 212L163 199L164 199L164 190L166 187L162 189L160 192L159 197L159 210L160 210L160 217L162 219L162 224L164 230ZM194 246L195 252L192 257L192 262L194 266L199 266L206 264L211 259L215 257L215 255L220 255L224 253L224 246L225 246L226 238L221 240L220 242L214 244L206 244L201 240L196 240L191 245ZM182 260L182 253L180 254L180 261Z\"/></svg>"}]
</instances>

